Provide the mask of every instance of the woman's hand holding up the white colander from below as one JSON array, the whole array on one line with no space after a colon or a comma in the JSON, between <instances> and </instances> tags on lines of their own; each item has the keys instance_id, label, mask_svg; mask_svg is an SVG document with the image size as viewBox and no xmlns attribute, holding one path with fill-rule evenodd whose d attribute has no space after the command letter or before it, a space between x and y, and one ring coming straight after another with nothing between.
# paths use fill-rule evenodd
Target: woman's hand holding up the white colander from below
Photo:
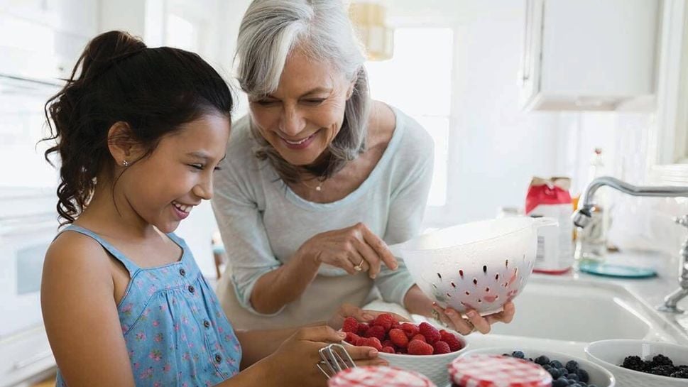
<instances>
[{"instance_id":1,"label":"woman's hand holding up the white colander from below","mask_svg":"<svg viewBox=\"0 0 688 387\"><path fill-rule=\"evenodd\" d=\"M466 316L468 319L462 317L461 313L457 312L451 307L442 309L442 307L439 307L439 305L435 304L433 305L433 309L436 312L433 313L435 318L439 317L438 320L447 325L447 327L454 329L463 335L470 334L475 330L481 332L482 334L486 334L490 332L491 325L493 325L495 322L511 322L515 313L515 307L511 301L504 304L504 310L493 315L481 316L475 310L468 310L466 311Z\"/></svg>"}]
</instances>

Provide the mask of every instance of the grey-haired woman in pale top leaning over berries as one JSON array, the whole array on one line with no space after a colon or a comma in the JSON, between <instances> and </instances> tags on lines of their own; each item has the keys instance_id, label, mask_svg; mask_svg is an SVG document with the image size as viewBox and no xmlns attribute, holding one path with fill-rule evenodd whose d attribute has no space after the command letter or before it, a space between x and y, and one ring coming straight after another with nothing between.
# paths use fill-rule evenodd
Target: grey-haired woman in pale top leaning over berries
<instances>
[{"instance_id":1,"label":"grey-haired woman in pale top leaning over berries","mask_svg":"<svg viewBox=\"0 0 688 387\"><path fill-rule=\"evenodd\" d=\"M303 325L379 296L464 334L511 320L510 303L467 319L434 306L389 251L420 231L433 143L370 99L341 0L253 1L236 56L250 114L213 199L229 256L217 291L236 327Z\"/></svg>"}]
</instances>

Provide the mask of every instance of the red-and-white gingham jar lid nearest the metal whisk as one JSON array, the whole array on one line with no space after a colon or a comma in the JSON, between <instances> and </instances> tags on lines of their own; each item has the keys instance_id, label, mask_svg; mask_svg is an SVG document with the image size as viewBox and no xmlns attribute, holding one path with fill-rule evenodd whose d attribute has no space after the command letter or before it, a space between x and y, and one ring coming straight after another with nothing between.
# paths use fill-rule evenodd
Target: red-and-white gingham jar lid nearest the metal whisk
<instances>
[{"instance_id":1,"label":"red-and-white gingham jar lid nearest the metal whisk","mask_svg":"<svg viewBox=\"0 0 688 387\"><path fill-rule=\"evenodd\" d=\"M430 379L413 371L386 366L345 369L332 376L328 387L436 387Z\"/></svg>"}]
</instances>

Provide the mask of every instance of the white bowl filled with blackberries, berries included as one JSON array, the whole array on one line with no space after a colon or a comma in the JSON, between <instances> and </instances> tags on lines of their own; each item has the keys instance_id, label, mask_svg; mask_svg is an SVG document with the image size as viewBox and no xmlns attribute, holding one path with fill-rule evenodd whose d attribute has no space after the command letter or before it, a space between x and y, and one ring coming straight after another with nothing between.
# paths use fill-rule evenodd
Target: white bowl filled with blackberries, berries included
<instances>
[{"instance_id":1,"label":"white bowl filled with blackberries, berries included","mask_svg":"<svg viewBox=\"0 0 688 387\"><path fill-rule=\"evenodd\" d=\"M611 371L622 386L688 386L688 347L613 339L590 343L585 354Z\"/></svg>"}]
</instances>

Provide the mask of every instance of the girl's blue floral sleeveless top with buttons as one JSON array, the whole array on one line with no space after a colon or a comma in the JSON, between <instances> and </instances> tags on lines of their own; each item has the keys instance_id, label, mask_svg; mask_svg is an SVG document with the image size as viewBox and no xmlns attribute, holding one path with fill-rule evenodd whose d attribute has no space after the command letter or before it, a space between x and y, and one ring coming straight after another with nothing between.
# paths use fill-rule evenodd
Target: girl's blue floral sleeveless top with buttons
<instances>
[{"instance_id":1,"label":"girl's blue floral sleeveless top with buttons","mask_svg":"<svg viewBox=\"0 0 688 387\"><path fill-rule=\"evenodd\" d=\"M137 387L208 387L239 373L241 347L185 241L180 261L140 268L94 232L76 231L98 241L129 271L119 302L119 321ZM58 387L66 387L58 370Z\"/></svg>"}]
</instances>

